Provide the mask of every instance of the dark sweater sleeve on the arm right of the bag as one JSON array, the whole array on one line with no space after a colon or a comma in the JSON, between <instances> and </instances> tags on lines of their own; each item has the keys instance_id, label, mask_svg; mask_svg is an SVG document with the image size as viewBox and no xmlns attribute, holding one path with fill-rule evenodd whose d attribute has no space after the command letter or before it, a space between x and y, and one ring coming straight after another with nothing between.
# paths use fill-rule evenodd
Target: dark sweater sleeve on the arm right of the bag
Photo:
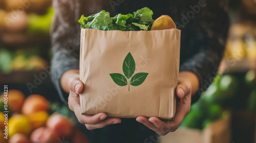
<instances>
[{"instance_id":1,"label":"dark sweater sleeve on the arm right of the bag","mask_svg":"<svg viewBox=\"0 0 256 143\"><path fill-rule=\"evenodd\" d=\"M222 60L227 38L229 20L225 11L225 4L221 1L205 1L205 6L193 19L189 40L185 49L198 49L180 65L180 71L191 71L199 78L198 92L191 103L196 102L205 91L218 72ZM187 37L186 37L187 38ZM199 47L198 47L199 46ZM182 58L181 53L181 58Z\"/></svg>"}]
</instances>

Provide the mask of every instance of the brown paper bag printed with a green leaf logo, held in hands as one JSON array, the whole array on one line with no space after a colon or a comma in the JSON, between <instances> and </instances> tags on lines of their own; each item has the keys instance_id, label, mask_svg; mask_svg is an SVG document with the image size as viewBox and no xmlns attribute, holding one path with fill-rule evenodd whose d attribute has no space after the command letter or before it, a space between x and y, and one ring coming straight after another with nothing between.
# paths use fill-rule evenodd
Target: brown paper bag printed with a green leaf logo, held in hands
<instances>
[{"instance_id":1,"label":"brown paper bag printed with a green leaf logo, held in hands","mask_svg":"<svg viewBox=\"0 0 256 143\"><path fill-rule=\"evenodd\" d=\"M180 32L81 29L82 114L173 118Z\"/></svg>"}]
</instances>

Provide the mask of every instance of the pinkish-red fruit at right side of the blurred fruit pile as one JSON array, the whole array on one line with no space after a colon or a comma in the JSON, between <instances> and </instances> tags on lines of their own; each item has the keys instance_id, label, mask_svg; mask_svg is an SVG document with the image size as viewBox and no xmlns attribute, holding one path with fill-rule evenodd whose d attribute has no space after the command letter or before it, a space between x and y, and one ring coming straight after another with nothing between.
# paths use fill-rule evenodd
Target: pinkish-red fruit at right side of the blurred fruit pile
<instances>
[{"instance_id":1,"label":"pinkish-red fruit at right side of the blurred fruit pile","mask_svg":"<svg viewBox=\"0 0 256 143\"><path fill-rule=\"evenodd\" d=\"M65 137L70 137L73 131L71 121L67 117L57 113L52 114L48 118L46 126Z\"/></svg>"}]
</instances>

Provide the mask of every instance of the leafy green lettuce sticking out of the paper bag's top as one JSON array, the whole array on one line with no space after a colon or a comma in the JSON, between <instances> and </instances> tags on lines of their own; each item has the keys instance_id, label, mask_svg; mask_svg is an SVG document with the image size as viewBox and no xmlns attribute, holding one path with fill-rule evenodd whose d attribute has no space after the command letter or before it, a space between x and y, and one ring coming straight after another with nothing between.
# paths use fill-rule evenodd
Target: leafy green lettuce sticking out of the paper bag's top
<instances>
[{"instance_id":1,"label":"leafy green lettuce sticking out of the paper bag's top","mask_svg":"<svg viewBox=\"0 0 256 143\"><path fill-rule=\"evenodd\" d=\"M150 30L154 20L153 11L147 7L126 15L117 14L110 17L110 13L104 10L97 14L85 17L81 16L78 22L81 28L98 30L121 30L121 31L140 31Z\"/></svg>"}]
</instances>

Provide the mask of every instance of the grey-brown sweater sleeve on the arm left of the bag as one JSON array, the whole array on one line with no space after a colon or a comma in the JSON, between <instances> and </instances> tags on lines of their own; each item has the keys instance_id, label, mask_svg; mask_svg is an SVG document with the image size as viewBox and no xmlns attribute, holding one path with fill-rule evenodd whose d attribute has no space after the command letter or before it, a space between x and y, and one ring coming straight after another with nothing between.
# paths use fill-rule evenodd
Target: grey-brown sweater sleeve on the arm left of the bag
<instances>
[{"instance_id":1,"label":"grey-brown sweater sleeve on the arm left of the bag","mask_svg":"<svg viewBox=\"0 0 256 143\"><path fill-rule=\"evenodd\" d=\"M60 79L69 69L79 69L80 26L78 0L54 0L52 29L51 79L61 101L67 103L68 94L62 90Z\"/></svg>"}]
</instances>

